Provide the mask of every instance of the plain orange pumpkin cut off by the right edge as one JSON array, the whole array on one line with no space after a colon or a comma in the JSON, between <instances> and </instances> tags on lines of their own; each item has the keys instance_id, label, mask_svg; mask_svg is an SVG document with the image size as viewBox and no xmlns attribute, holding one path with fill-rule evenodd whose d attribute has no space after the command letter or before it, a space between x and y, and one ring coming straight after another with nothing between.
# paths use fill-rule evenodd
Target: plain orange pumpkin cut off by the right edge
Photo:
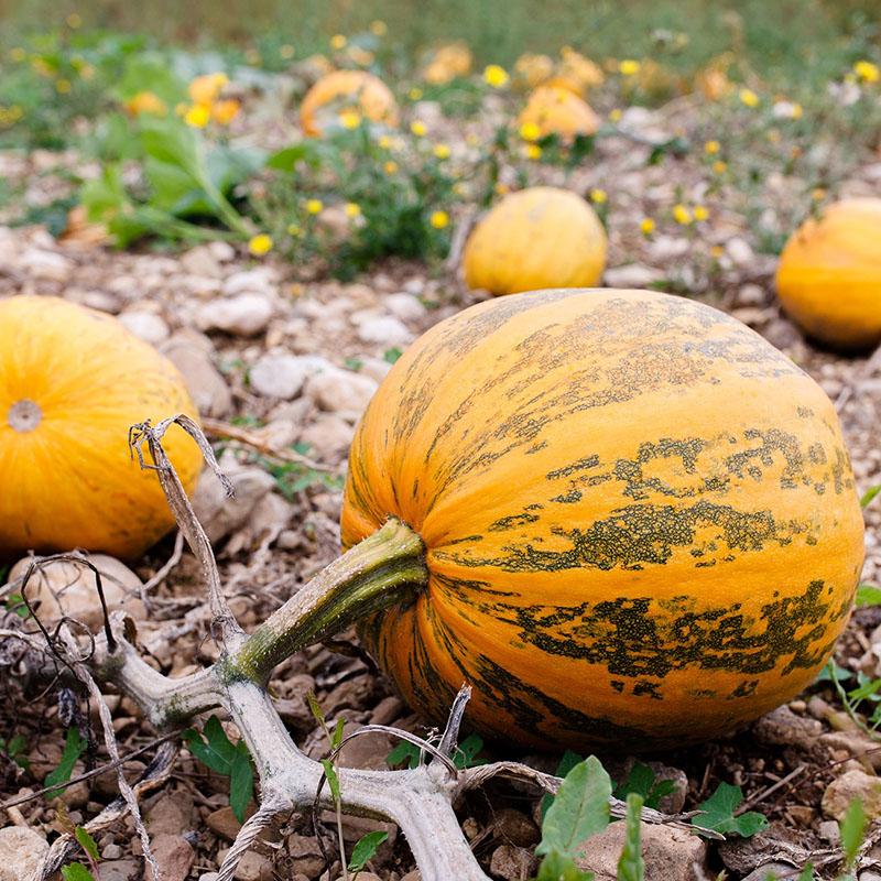
<instances>
[{"instance_id":1,"label":"plain orange pumpkin cut off by the right edge","mask_svg":"<svg viewBox=\"0 0 881 881\"><path fill-rule=\"evenodd\" d=\"M835 203L786 242L776 285L783 308L841 349L881 342L881 198Z\"/></svg>"}]
</instances>

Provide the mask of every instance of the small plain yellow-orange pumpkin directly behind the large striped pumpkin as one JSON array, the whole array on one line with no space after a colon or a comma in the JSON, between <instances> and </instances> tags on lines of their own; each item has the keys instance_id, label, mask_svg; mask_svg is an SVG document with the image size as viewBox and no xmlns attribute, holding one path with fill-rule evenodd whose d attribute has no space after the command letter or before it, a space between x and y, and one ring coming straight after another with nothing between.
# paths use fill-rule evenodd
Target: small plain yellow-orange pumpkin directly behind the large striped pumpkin
<instances>
[{"instance_id":1,"label":"small plain yellow-orange pumpkin directly behind the large striped pumpkin","mask_svg":"<svg viewBox=\"0 0 881 881\"><path fill-rule=\"evenodd\" d=\"M596 284L606 265L606 231L575 193L530 187L504 196L475 227L463 265L470 287L493 294Z\"/></svg>"}]
</instances>

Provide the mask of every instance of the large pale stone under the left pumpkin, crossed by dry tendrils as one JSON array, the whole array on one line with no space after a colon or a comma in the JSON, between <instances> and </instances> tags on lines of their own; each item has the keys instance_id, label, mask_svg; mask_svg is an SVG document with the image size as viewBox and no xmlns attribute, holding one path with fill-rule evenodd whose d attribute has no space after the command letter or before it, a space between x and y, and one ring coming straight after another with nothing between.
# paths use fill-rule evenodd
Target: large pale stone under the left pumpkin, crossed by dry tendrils
<instances>
[{"instance_id":1,"label":"large pale stone under the left pumpkin, crossed by dry tendrils","mask_svg":"<svg viewBox=\"0 0 881 881\"><path fill-rule=\"evenodd\" d=\"M88 561L101 576L101 588L109 611L122 609L137 621L146 614L139 597L141 579L124 563L106 554L89 554ZM22 577L31 557L20 559L9 573L9 580ZM104 623L95 573L86 565L54 561L35 570L28 584L28 598L42 603L40 617L45 624L69 616L96 630ZM84 803L85 804L85 803Z\"/></svg>"}]
</instances>

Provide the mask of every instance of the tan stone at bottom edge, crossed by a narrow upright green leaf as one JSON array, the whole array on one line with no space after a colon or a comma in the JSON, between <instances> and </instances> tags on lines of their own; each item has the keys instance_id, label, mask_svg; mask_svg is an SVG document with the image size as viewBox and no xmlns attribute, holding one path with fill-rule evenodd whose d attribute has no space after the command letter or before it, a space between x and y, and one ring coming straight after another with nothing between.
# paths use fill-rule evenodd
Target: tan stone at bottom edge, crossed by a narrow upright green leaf
<instances>
[{"instance_id":1,"label":"tan stone at bottom edge, crossed by a narrow upright green leaf","mask_svg":"<svg viewBox=\"0 0 881 881\"><path fill-rule=\"evenodd\" d=\"M614 881L618 859L624 846L622 822L611 823L599 835L591 836L576 862L596 873L596 881ZM641 824L642 856L645 877L664 881L699 881L707 857L707 845L696 835L672 826Z\"/></svg>"}]
</instances>

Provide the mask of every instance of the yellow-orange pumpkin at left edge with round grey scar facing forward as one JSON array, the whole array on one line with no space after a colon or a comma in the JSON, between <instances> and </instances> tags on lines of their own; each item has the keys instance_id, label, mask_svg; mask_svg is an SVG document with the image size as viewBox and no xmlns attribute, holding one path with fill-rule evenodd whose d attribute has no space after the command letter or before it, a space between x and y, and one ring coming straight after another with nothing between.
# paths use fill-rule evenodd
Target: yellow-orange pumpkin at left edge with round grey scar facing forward
<instances>
[{"instance_id":1,"label":"yellow-orange pumpkin at left edge with round grey scar facing forward","mask_svg":"<svg viewBox=\"0 0 881 881\"><path fill-rule=\"evenodd\" d=\"M196 410L174 365L112 316L56 297L0 301L0 558L84 547L133 557L173 525L129 427ZM202 455L167 434L187 490Z\"/></svg>"}]
</instances>

